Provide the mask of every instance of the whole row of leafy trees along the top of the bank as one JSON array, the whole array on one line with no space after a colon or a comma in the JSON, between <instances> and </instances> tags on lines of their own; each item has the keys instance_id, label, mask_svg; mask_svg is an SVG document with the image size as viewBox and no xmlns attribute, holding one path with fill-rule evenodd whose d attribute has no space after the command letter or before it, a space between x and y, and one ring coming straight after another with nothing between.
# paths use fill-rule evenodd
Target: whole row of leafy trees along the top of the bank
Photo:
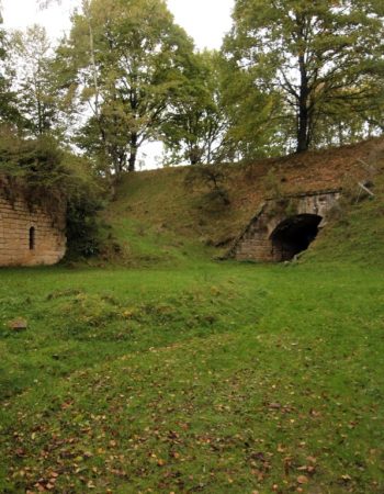
<instances>
[{"instance_id":1,"label":"whole row of leafy trees along the top of the bank","mask_svg":"<svg viewBox=\"0 0 384 494\"><path fill-rule=\"evenodd\" d=\"M233 20L221 52L196 50L165 0L82 0L58 46L2 30L0 123L55 136L110 184L153 141L196 165L383 132L382 1L236 0Z\"/></svg>"}]
</instances>

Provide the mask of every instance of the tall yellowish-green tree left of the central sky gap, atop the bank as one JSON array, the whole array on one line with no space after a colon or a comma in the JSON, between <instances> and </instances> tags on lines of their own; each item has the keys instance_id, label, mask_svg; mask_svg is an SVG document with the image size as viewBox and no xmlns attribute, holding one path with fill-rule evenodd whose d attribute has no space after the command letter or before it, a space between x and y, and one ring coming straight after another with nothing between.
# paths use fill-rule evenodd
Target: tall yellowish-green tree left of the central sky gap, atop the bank
<instances>
[{"instance_id":1,"label":"tall yellowish-green tree left of the central sky gap, atop the bank","mask_svg":"<svg viewBox=\"0 0 384 494\"><path fill-rule=\"evenodd\" d=\"M83 1L59 56L70 63L89 117L78 144L118 177L155 139L193 44L162 0Z\"/></svg>"}]
</instances>

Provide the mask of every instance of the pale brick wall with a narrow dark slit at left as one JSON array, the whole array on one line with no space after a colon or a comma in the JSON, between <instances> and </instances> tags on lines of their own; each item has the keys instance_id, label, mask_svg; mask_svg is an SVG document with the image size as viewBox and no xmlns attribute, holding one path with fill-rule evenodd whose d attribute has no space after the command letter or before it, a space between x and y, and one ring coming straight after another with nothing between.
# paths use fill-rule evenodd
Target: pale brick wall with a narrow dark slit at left
<instances>
[{"instance_id":1,"label":"pale brick wall with a narrow dark slit at left","mask_svg":"<svg viewBox=\"0 0 384 494\"><path fill-rule=\"evenodd\" d=\"M10 201L0 191L0 266L54 265L65 252L65 213L54 220L22 195Z\"/></svg>"}]
</instances>

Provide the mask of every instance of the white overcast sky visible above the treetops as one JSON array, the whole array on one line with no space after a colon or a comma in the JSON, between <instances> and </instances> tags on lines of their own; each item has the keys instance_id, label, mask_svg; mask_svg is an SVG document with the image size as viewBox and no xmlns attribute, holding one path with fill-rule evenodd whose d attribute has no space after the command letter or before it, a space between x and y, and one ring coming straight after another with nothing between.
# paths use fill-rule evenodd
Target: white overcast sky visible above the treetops
<instances>
[{"instance_id":1,"label":"white overcast sky visible above the treetops","mask_svg":"<svg viewBox=\"0 0 384 494\"><path fill-rule=\"evenodd\" d=\"M230 27L234 0L167 0L178 24L195 40L199 48L218 48L224 33ZM63 0L46 11L35 0L2 0L7 27L23 29L39 23L49 34L59 36L69 27L69 15L80 0Z\"/></svg>"}]
</instances>

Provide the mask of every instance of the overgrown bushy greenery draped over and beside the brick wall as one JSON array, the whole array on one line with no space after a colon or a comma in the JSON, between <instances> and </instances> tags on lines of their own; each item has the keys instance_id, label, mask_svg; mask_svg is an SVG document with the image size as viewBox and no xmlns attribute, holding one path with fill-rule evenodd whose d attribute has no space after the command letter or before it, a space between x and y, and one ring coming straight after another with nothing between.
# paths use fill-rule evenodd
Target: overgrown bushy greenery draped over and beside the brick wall
<instances>
[{"instance_id":1,"label":"overgrown bushy greenery draped over and beside the brick wall","mask_svg":"<svg viewBox=\"0 0 384 494\"><path fill-rule=\"evenodd\" d=\"M18 190L53 215L67 211L69 256L97 254L103 188L86 159L63 150L48 135L25 139L2 128L0 176L7 177L2 186L11 198Z\"/></svg>"}]
</instances>

